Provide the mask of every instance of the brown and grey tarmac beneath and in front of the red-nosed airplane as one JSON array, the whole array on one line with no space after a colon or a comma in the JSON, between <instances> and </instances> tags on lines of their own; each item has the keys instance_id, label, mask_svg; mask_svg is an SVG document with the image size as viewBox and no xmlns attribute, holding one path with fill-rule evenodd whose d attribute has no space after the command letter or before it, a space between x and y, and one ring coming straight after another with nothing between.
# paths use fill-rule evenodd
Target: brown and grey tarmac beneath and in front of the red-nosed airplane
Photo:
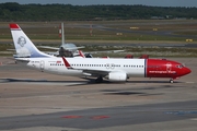
<instances>
[{"instance_id":1,"label":"brown and grey tarmac beneath and in front of the red-nosed airplane","mask_svg":"<svg viewBox=\"0 0 197 131\"><path fill-rule=\"evenodd\" d=\"M195 131L197 59L171 58L192 73L126 83L48 74L0 58L1 131Z\"/></svg>"}]
</instances>

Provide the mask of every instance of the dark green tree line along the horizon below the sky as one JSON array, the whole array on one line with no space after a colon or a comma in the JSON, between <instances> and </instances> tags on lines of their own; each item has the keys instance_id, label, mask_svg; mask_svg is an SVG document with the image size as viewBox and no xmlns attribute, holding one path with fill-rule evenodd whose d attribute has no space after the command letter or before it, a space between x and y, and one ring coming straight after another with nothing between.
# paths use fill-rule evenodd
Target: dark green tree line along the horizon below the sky
<instances>
[{"instance_id":1,"label":"dark green tree line along the horizon below the sky","mask_svg":"<svg viewBox=\"0 0 197 131\"><path fill-rule=\"evenodd\" d=\"M0 3L0 21L197 19L197 8Z\"/></svg>"}]
</instances>

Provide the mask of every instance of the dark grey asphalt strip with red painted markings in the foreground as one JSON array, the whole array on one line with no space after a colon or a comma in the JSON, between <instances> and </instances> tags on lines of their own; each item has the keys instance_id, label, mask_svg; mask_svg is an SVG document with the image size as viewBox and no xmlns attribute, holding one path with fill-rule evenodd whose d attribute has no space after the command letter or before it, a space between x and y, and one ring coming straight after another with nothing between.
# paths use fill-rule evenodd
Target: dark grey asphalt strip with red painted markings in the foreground
<instances>
[{"instance_id":1,"label":"dark grey asphalt strip with red painted markings in the foreground","mask_svg":"<svg viewBox=\"0 0 197 131\"><path fill-rule=\"evenodd\" d=\"M71 129L99 129L118 126L192 120L197 118L197 100L123 106L45 115L0 118L0 129L32 127L61 127Z\"/></svg>"}]
</instances>

